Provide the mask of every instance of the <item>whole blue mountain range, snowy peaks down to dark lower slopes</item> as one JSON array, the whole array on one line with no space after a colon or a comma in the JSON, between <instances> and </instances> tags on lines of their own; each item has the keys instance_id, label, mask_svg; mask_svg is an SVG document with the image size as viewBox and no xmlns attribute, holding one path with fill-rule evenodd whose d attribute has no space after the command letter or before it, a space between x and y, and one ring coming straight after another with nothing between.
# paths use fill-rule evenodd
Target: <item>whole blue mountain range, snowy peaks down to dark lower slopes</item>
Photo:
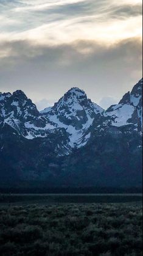
<instances>
[{"instance_id":1,"label":"whole blue mountain range, snowy peaks down to dark lower slopes","mask_svg":"<svg viewBox=\"0 0 143 256\"><path fill-rule=\"evenodd\" d=\"M142 79L106 111L73 87L39 112L0 92L0 186L142 186Z\"/></svg>"}]
</instances>

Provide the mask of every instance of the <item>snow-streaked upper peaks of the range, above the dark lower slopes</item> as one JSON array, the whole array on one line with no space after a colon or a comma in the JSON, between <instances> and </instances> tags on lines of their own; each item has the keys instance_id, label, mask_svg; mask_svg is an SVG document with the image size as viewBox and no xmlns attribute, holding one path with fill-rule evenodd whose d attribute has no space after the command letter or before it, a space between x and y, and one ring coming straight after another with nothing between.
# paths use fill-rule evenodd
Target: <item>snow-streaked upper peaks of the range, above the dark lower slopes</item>
<instances>
[{"instance_id":1,"label":"snow-streaked upper peaks of the range, above the dark lower slopes","mask_svg":"<svg viewBox=\"0 0 143 256\"><path fill-rule=\"evenodd\" d=\"M93 131L130 125L142 131L142 79L125 93L119 104L106 111L88 99L84 90L72 87L51 108L39 112L22 90L0 93L0 125L9 125L26 139L65 133L68 150L86 145ZM67 142L67 141L66 141ZM60 147L61 148L61 147Z\"/></svg>"}]
</instances>

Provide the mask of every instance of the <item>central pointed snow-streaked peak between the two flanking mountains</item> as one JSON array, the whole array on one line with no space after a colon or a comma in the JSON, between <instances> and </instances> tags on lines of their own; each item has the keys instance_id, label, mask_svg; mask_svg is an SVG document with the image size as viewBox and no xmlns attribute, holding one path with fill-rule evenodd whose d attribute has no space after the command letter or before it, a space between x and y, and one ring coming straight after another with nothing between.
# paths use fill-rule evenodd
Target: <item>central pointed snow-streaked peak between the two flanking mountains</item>
<instances>
[{"instance_id":1,"label":"central pointed snow-streaked peak between the two flanking mountains","mask_svg":"<svg viewBox=\"0 0 143 256\"><path fill-rule=\"evenodd\" d=\"M83 90L70 89L54 107L44 109L41 114L51 125L65 128L71 147L83 147L91 133L88 131L95 119L103 115L103 109L92 103Z\"/></svg>"}]
</instances>

